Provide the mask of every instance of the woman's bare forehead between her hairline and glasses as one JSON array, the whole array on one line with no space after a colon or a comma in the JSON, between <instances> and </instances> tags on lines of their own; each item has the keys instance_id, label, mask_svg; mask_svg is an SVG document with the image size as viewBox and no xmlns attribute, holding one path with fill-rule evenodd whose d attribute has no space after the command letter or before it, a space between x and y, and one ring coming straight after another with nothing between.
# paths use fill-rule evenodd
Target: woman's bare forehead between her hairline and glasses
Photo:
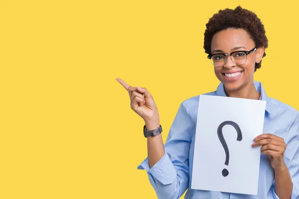
<instances>
[{"instance_id":1,"label":"woman's bare forehead between her hairline and glasses","mask_svg":"<svg viewBox=\"0 0 299 199\"><path fill-rule=\"evenodd\" d=\"M244 29L225 29L214 34L211 42L211 51L222 50L229 53L231 49L239 46L250 48L254 41Z\"/></svg>"}]
</instances>

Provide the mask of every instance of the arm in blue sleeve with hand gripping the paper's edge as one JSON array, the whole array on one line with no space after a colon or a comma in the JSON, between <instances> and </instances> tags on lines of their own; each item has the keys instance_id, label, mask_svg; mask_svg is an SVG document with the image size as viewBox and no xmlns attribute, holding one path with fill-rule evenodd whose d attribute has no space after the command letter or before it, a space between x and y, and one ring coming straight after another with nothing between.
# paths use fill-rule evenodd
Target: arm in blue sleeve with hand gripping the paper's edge
<instances>
[{"instance_id":1,"label":"arm in blue sleeve with hand gripping the paper's edge","mask_svg":"<svg viewBox=\"0 0 299 199\"><path fill-rule=\"evenodd\" d=\"M299 199L299 115L294 116L286 139L267 133L254 139L254 147L262 146L274 168L275 199Z\"/></svg>"}]
</instances>

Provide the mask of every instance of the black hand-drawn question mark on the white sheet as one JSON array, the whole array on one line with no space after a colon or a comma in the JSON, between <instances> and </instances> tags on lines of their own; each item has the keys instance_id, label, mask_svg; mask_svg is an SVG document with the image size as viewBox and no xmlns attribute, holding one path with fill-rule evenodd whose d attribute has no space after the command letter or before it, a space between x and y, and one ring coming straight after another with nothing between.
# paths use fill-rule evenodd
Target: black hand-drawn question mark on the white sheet
<instances>
[{"instance_id":1,"label":"black hand-drawn question mark on the white sheet","mask_svg":"<svg viewBox=\"0 0 299 199\"><path fill-rule=\"evenodd\" d=\"M229 151L228 151L228 147L227 147L227 144L225 142L225 139L224 139L223 133L222 133L222 128L225 125L232 125L236 129L237 134L238 134L237 141L241 141L242 140L242 132L241 132L241 129L240 129L239 125L236 122L233 122L233 121L224 121L224 122L222 122L218 126L218 129L217 129L218 138L219 138L219 140L220 140L220 142L221 142L221 144L222 144L222 146L224 148L225 155L226 155L226 157L225 157L225 163L224 164L228 166ZM224 176L224 177L228 176L227 169L223 169L222 170L222 176Z\"/></svg>"}]
</instances>

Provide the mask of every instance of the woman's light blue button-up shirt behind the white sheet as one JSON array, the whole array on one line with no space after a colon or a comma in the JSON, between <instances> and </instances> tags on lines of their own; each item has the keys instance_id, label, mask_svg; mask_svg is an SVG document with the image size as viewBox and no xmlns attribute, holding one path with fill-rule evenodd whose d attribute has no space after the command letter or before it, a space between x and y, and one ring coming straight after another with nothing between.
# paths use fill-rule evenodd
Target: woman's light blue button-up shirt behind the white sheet
<instances>
[{"instance_id":1,"label":"woman's light blue button-up shirt behind the white sheet","mask_svg":"<svg viewBox=\"0 0 299 199\"><path fill-rule=\"evenodd\" d=\"M266 100L263 133L284 138L287 144L285 162L293 181L291 199L299 199L299 112L281 101L267 97L260 82L254 82L254 85L261 94L260 100ZM222 83L217 91L204 95L226 97ZM180 104L168 132L164 156L152 168L149 168L148 158L138 166L138 169L147 171L157 197L178 199L188 189L184 199L279 199L274 190L274 169L263 153L257 196L191 189L198 101L199 96L195 96Z\"/></svg>"}]
</instances>

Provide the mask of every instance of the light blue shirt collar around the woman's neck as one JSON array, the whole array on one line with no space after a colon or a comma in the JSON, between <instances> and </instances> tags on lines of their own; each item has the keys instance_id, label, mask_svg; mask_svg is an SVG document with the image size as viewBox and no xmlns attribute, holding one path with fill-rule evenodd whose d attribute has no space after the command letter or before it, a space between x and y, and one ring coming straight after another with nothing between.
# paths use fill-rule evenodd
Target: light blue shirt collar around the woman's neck
<instances>
[{"instance_id":1,"label":"light blue shirt collar around the woman's neck","mask_svg":"<svg viewBox=\"0 0 299 199\"><path fill-rule=\"evenodd\" d=\"M257 92L259 92L261 94L260 100L266 101L266 111L269 114L272 115L272 113L271 113L271 111L272 111L271 110L271 104L269 103L269 98L268 98L268 96L267 96L267 94L266 94L266 92L265 92L265 90L262 86L262 83L254 81L254 86L255 86ZM217 94L217 96L227 97L226 93L224 91L224 86L223 86L222 82L217 87L217 93L216 94Z\"/></svg>"}]
</instances>

